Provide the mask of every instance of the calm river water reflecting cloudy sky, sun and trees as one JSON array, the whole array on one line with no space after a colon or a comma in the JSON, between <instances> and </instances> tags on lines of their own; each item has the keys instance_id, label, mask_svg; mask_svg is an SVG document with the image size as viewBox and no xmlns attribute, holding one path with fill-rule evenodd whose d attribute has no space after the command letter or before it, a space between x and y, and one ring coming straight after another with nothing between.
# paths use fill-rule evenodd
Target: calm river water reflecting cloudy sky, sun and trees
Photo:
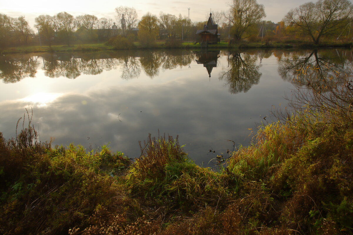
<instances>
[{"instance_id":1,"label":"calm river water reflecting cloudy sky, sun and trees","mask_svg":"<svg viewBox=\"0 0 353 235\"><path fill-rule=\"evenodd\" d=\"M159 130L179 135L189 157L207 166L233 149L228 140L247 146L273 106L287 106L300 68L344 73L351 62L346 49L1 55L0 131L15 136L32 107L41 141L110 143L133 158L138 141Z\"/></svg>"}]
</instances>

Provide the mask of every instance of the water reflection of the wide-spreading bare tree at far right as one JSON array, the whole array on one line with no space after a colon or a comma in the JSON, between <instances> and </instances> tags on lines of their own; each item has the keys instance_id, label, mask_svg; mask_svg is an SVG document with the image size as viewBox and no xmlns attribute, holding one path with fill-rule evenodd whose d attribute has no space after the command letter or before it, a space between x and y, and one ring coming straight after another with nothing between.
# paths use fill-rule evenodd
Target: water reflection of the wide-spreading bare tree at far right
<instances>
[{"instance_id":1,"label":"water reflection of the wide-spreading bare tree at far right","mask_svg":"<svg viewBox=\"0 0 353 235\"><path fill-rule=\"evenodd\" d=\"M340 74L352 73L352 54L345 49L282 52L276 56L283 80L321 92L340 82Z\"/></svg>"}]
</instances>

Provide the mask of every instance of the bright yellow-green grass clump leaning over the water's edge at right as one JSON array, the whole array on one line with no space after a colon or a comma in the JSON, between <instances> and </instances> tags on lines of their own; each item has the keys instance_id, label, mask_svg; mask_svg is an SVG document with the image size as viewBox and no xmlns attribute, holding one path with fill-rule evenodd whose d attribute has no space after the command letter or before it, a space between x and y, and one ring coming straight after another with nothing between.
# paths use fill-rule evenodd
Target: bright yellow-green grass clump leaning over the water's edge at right
<instances>
[{"instance_id":1,"label":"bright yellow-green grass clump leaning over the water's edge at right","mask_svg":"<svg viewBox=\"0 0 353 235\"><path fill-rule=\"evenodd\" d=\"M236 178L267 177L303 144L303 139L303 133L280 121L262 124L249 147L232 153L228 170Z\"/></svg>"}]
</instances>

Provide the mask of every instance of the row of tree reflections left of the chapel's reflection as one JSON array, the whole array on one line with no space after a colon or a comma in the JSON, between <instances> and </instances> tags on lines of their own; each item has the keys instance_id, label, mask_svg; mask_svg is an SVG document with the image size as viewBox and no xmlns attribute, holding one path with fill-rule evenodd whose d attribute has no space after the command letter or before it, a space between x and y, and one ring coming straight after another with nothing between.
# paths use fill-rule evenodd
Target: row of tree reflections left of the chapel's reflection
<instances>
[{"instance_id":1,"label":"row of tree reflections left of the chapel's reflection","mask_svg":"<svg viewBox=\"0 0 353 235\"><path fill-rule=\"evenodd\" d=\"M120 67L122 79L138 78L141 68L147 76L154 78L160 68L174 69L190 65L195 54L192 51L120 51L117 53L93 54L44 54L44 75L49 78L61 76L76 79L81 74L97 75L104 70ZM25 77L34 77L39 66L38 57L0 58L0 78L5 83L17 82Z\"/></svg>"}]
</instances>

